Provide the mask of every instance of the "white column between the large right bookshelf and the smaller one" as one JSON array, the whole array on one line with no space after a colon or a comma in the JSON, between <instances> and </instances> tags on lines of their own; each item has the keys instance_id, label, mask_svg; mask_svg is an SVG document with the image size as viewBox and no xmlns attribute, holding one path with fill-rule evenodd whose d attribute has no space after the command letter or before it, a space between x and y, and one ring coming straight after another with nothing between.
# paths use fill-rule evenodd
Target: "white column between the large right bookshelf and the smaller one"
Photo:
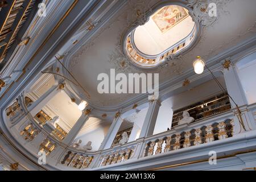
<instances>
[{"instance_id":1,"label":"white column between the large right bookshelf and the smaller one","mask_svg":"<svg viewBox=\"0 0 256 182\"><path fill-rule=\"evenodd\" d=\"M158 100L150 102L148 107L146 118L144 119L141 134L139 138L151 136L154 133L156 118L158 117L158 111L161 104Z\"/></svg>"}]
</instances>

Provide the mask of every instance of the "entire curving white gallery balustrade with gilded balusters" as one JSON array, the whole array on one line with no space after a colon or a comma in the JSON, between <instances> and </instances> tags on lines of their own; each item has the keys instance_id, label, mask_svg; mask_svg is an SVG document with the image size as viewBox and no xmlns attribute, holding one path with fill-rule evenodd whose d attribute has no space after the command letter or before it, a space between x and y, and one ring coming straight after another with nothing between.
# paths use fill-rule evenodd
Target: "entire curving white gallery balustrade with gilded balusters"
<instances>
[{"instance_id":1,"label":"entire curving white gallery balustrade with gilded balusters","mask_svg":"<svg viewBox=\"0 0 256 182\"><path fill-rule=\"evenodd\" d=\"M235 128L239 125L233 110L229 110L191 123L185 127L174 127L169 131L138 139L124 145L119 144L107 150L85 152L65 145L61 140L55 138L51 132L39 125L27 111L22 98L19 97L19 100L15 102L17 102L14 104L15 107L7 109L7 113L10 115L11 110L15 113L16 106L18 106L20 107L18 109L19 114L26 115L26 119L17 122L16 119L19 119L19 117L16 117L16 114L13 115L14 118L6 118L10 119L12 123L16 122L16 127L12 127L12 132L18 137L18 142L21 144L25 142L28 151L31 150L31 154L37 155L38 151L46 152L51 160L57 160L55 162L55 164L57 163L57 168L60 166L73 169L104 168L113 164L129 162L129 159L137 160L201 144L207 145L207 143L215 142L216 140L233 137L233 135L237 134ZM250 112L251 118L256 121L256 105L249 106L247 110L248 113ZM58 159L53 159L51 156L55 150L63 151L59 153L61 155L58 156Z\"/></svg>"}]
</instances>

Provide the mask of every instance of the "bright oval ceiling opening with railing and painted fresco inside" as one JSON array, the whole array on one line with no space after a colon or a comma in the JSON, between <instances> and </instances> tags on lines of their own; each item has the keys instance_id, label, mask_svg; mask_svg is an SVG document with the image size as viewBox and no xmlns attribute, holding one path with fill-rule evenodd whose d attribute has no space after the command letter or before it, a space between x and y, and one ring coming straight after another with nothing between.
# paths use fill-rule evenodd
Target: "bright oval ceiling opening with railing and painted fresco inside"
<instances>
[{"instance_id":1,"label":"bright oval ceiling opening with railing and painted fresco inside","mask_svg":"<svg viewBox=\"0 0 256 182\"><path fill-rule=\"evenodd\" d=\"M141 67L154 67L187 47L195 33L196 23L185 7L164 6L129 33L126 53Z\"/></svg>"}]
</instances>

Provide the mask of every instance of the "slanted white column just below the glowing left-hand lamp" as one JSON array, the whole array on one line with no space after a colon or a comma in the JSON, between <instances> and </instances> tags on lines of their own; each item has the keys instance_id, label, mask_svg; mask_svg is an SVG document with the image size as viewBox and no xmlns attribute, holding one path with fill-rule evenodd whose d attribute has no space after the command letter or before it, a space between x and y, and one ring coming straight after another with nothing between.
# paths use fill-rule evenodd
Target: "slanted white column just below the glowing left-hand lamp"
<instances>
[{"instance_id":1,"label":"slanted white column just below the glowing left-hand lamp","mask_svg":"<svg viewBox=\"0 0 256 182\"><path fill-rule=\"evenodd\" d=\"M79 134L79 131L85 125L86 121L88 121L89 114L90 114L90 110L88 109L82 112L82 115L80 116L80 118L77 120L77 122L72 127L72 129L68 132L68 135L63 139L63 143L67 144L68 146L72 144L77 134Z\"/></svg>"}]
</instances>

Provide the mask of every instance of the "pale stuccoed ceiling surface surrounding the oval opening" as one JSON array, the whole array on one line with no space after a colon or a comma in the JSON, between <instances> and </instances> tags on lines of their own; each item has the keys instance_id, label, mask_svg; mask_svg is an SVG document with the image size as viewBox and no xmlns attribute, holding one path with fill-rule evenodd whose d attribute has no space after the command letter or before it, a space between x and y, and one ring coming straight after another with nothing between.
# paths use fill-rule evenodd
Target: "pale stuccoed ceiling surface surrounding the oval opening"
<instances>
[{"instance_id":1,"label":"pale stuccoed ceiling surface surrounding the oval opening","mask_svg":"<svg viewBox=\"0 0 256 182\"><path fill-rule=\"evenodd\" d=\"M146 22L147 18L143 13L151 10L150 7L158 2L155 0L127 1L125 6L116 10L115 15L103 26L98 29L96 26L92 30L95 31L92 38L80 43L76 51L65 57L65 65L89 92L91 98L88 102L90 104L98 107L121 106L124 102L138 96L138 94L99 94L97 92L98 74L109 74L111 68L115 68L116 73L159 73L159 84L163 84L191 71L192 61L196 56L200 55L208 61L255 36L256 11L254 7L256 7L256 1L246 0L246 3L240 0L210 1L217 4L217 18L210 18L207 13L203 12L201 8L205 7L205 1L189 1L188 6L194 9L193 18L201 20L203 24L199 42L191 51L169 60L159 68L139 69L130 64L123 55L122 36L135 24ZM200 16L202 13L203 15ZM137 23L134 24L135 20ZM80 89L69 86L86 100Z\"/></svg>"}]
</instances>

